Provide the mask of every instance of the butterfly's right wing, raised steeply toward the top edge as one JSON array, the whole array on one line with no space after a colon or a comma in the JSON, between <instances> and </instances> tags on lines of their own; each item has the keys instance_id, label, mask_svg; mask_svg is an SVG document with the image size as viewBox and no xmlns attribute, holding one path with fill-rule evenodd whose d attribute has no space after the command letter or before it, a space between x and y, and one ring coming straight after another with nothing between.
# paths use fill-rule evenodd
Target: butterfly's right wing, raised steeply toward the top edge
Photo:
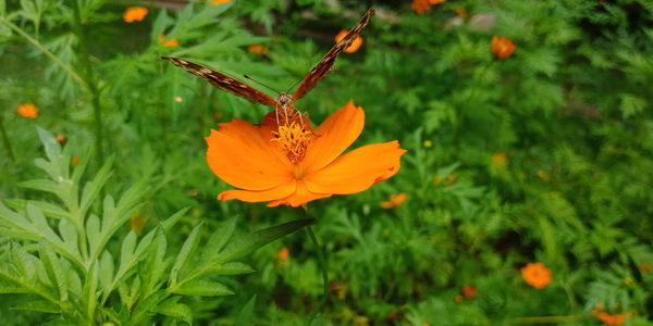
<instances>
[{"instance_id":1,"label":"butterfly's right wing, raised steeply toward the top edge","mask_svg":"<svg viewBox=\"0 0 653 326\"><path fill-rule=\"evenodd\" d=\"M360 18L358 24L341 41L335 43L333 48L320 60L320 62L304 77L301 84L297 88L297 91L293 95L293 101L296 101L307 95L315 86L320 82L331 70L333 70L333 64L335 63L335 58L346 48L348 48L352 42L360 35L362 29L370 22L370 18L374 15L374 10L369 9L365 15Z\"/></svg>"}]
</instances>

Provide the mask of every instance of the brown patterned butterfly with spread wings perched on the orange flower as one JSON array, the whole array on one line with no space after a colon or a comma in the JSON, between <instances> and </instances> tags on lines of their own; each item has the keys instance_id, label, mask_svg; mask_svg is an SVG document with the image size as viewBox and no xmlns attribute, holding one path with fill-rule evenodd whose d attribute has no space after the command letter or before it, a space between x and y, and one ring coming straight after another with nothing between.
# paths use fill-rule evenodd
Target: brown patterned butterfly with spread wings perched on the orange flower
<instances>
[{"instance_id":1,"label":"brown patterned butterfly with spread wings perched on the orange flower","mask_svg":"<svg viewBox=\"0 0 653 326\"><path fill-rule=\"evenodd\" d=\"M272 99L262 91L238 79L215 72L200 64L180 58L161 57L161 59L168 60L174 65L185 68L188 71L188 73L206 79L217 88L242 97L252 103L264 104L274 108L278 123L285 122L287 124L288 122L300 118L300 113L295 109L295 102L306 96L318 84L318 82L322 80L322 78L324 78L326 74L333 70L333 64L335 63L336 57L347 49L352 42L354 42L362 29L368 25L373 15L374 10L369 9L365 15L362 15L358 24L356 24L356 26L352 28L341 41L335 43L335 46L333 46L333 48L326 52L322 60L320 60L320 62L318 62L318 64L306 75L306 77L304 77L299 84L299 87L297 87L297 91L292 95L288 92L280 92L275 99Z\"/></svg>"}]
</instances>

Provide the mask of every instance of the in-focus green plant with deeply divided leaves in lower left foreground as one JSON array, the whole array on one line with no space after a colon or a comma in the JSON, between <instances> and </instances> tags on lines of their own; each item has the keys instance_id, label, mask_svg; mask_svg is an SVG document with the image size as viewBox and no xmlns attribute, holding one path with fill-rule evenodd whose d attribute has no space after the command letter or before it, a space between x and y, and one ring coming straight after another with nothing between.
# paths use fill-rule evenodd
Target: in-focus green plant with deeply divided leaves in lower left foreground
<instances>
[{"instance_id":1,"label":"in-focus green plant with deeply divided leaves in lower left foreground","mask_svg":"<svg viewBox=\"0 0 653 326\"><path fill-rule=\"evenodd\" d=\"M0 258L0 292L33 294L36 300L14 309L57 314L52 319L57 325L137 325L159 314L190 324L190 308L181 302L185 296L233 294L214 278L254 272L236 260L312 222L299 220L234 237L236 218L229 218L201 249L202 226L197 225L174 254L165 233L187 209L140 238L134 230L121 236L123 225L143 205L146 181L133 185L118 200L100 198L112 160L82 187L87 160L71 171L65 149L47 131L38 134L47 159L36 164L49 178L22 186L49 192L60 203L8 201L12 210L0 202L0 235L11 240Z\"/></svg>"}]
</instances>

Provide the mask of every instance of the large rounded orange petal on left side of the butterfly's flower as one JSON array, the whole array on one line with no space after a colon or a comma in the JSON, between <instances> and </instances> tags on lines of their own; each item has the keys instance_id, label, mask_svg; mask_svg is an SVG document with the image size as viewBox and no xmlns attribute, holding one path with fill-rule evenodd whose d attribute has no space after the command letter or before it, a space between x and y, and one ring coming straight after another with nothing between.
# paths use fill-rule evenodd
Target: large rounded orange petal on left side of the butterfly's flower
<instances>
[{"instance_id":1,"label":"large rounded orange petal on left side of the butterfly's flower","mask_svg":"<svg viewBox=\"0 0 653 326\"><path fill-rule=\"evenodd\" d=\"M273 152L259 128L242 120L220 124L205 138L207 162L225 183L247 190L266 190L292 179L292 170Z\"/></svg>"}]
</instances>

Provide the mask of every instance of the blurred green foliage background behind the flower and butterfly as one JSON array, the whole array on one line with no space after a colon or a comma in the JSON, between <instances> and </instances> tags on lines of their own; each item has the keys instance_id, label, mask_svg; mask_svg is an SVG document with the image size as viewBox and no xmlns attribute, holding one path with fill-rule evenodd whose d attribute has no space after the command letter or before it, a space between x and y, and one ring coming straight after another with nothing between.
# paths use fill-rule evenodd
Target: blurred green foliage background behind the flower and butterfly
<instances>
[{"instance_id":1,"label":"blurred green foliage background behind the flower and butterfly","mask_svg":"<svg viewBox=\"0 0 653 326\"><path fill-rule=\"evenodd\" d=\"M601 325L601 311L653 325L653 1L86 0L81 24L73 1L0 0L0 200L42 199L19 187L42 177L39 126L95 170L114 155L108 192L151 187L122 233L190 206L172 251L202 222L300 218L215 199L231 187L208 168L204 137L270 108L159 57L287 89L372 7L362 47L297 108L319 124L354 99L367 118L353 148L398 139L408 152L370 190L310 203L331 290L313 324ZM148 13L127 23L133 5ZM514 53L497 58L495 35ZM234 296L183 301L198 325L233 325L254 296L251 325L304 325L322 293L316 252L291 235L247 259L257 273L222 279ZM543 289L521 276L532 262L551 271ZM0 296L3 325L52 319L10 310L25 297Z\"/></svg>"}]
</instances>

